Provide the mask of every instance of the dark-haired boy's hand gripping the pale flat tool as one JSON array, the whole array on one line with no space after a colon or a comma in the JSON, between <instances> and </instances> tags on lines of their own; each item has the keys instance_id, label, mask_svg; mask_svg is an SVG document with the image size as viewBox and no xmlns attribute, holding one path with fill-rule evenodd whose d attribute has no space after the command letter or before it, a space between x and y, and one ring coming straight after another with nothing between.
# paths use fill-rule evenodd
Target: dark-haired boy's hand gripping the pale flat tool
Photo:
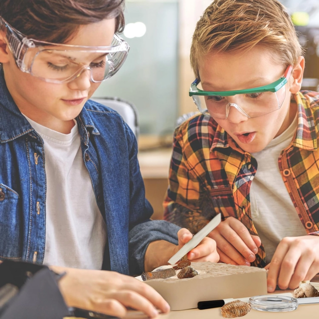
<instances>
[{"instance_id":1,"label":"dark-haired boy's hand gripping the pale flat tool","mask_svg":"<svg viewBox=\"0 0 319 319\"><path fill-rule=\"evenodd\" d=\"M186 228L180 229L177 236L178 250L193 237L191 232ZM187 258L192 262L211 261L212 263L217 263L219 261L219 255L216 250L216 242L209 237L205 237L195 248L188 252Z\"/></svg>"}]
</instances>

